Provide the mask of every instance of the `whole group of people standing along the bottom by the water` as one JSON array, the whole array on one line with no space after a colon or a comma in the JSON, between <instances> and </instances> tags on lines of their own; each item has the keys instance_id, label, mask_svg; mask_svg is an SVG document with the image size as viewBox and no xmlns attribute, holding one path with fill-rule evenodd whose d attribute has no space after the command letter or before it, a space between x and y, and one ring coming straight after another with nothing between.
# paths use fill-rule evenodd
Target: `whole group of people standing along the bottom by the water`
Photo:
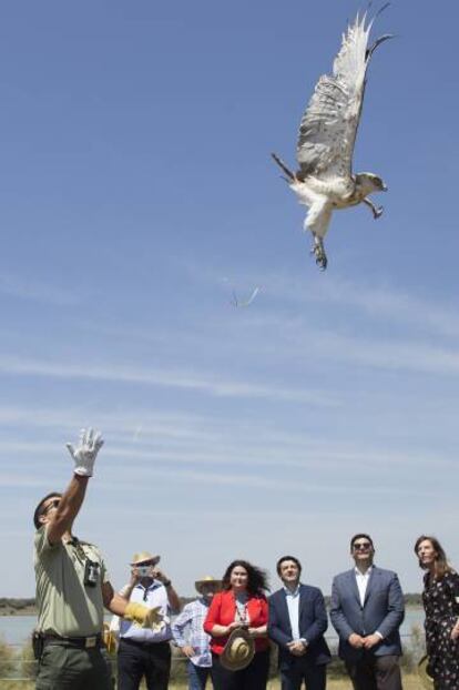
<instances>
[{"instance_id":1,"label":"whole group of people standing along the bottom by the water","mask_svg":"<svg viewBox=\"0 0 459 690\"><path fill-rule=\"evenodd\" d=\"M246 560L234 560L218 580L195 582L197 598L182 611L160 557L135 554L130 581L115 592L99 549L72 534L89 478L103 440L82 432L74 448L71 481L63 494L38 504L34 567L39 660L37 690L111 690L102 636L104 607L116 617L118 688L166 690L171 642L186 657L190 690L265 690L272 643L278 648L283 690L325 690L330 651L322 591L302 582L302 564L283 556L276 565L282 586L269 597L266 574ZM436 690L459 690L459 576L441 545L421 536L415 546L426 570L424 605L428 672ZM374 564L367 534L350 539L353 567L332 586L329 617L339 638L355 690L401 690L399 628L404 596L398 577ZM175 616L175 618L173 618ZM110 636L109 636L110 639ZM106 641L106 640L105 640Z\"/></svg>"}]
</instances>

